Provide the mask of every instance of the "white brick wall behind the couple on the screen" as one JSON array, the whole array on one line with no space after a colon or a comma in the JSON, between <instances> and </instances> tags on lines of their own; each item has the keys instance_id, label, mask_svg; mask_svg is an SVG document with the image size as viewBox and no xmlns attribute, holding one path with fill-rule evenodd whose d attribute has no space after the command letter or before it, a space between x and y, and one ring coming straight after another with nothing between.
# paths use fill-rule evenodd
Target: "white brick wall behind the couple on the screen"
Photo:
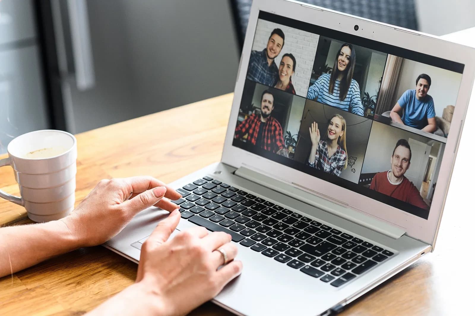
<instances>
[{"instance_id":1,"label":"white brick wall behind the couple on the screen","mask_svg":"<svg viewBox=\"0 0 475 316\"><path fill-rule=\"evenodd\" d=\"M256 36L254 37L252 50L263 50L266 48L270 33L276 28L282 29L285 35L284 48L282 48L282 51L275 59L276 65L277 67L279 66L284 54L291 53L294 55L297 61L295 74L292 76L295 93L299 96L307 96L319 35L259 19L257 21Z\"/></svg>"}]
</instances>

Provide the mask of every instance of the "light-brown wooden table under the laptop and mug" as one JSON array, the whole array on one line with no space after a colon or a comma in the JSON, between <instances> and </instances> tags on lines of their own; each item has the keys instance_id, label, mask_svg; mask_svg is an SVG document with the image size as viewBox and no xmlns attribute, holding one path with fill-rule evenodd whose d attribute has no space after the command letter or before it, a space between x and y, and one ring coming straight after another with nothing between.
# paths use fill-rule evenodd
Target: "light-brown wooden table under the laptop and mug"
<instances>
[{"instance_id":1,"label":"light-brown wooden table under the laptop and mug","mask_svg":"<svg viewBox=\"0 0 475 316\"><path fill-rule=\"evenodd\" d=\"M468 32L475 38L475 29ZM466 40L467 33L453 38ZM78 134L76 201L103 178L149 174L171 182L219 161L231 102L232 94L218 96ZM475 122L473 98L467 122ZM466 124L435 253L341 315L457 315L470 310L475 282L469 248L475 223L469 198L475 178L473 135L474 124ZM9 168L0 169L0 188L18 194ZM0 223L29 223L25 218L23 208L0 201ZM132 284L136 269L133 262L101 246L78 249L0 278L0 314L81 314ZM191 314L231 315L212 303Z\"/></svg>"}]
</instances>

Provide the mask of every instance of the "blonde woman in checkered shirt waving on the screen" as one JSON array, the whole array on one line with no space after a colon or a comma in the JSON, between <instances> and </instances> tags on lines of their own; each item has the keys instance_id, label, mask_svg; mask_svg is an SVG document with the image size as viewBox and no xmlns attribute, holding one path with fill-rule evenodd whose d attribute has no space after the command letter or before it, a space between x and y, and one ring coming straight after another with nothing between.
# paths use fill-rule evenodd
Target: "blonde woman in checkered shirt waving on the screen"
<instances>
[{"instance_id":1,"label":"blonde woman in checkered shirt waving on the screen","mask_svg":"<svg viewBox=\"0 0 475 316\"><path fill-rule=\"evenodd\" d=\"M312 141L308 158L309 165L339 177L348 165L346 120L342 115L333 115L322 140L320 140L320 131L316 122L312 123L309 130Z\"/></svg>"}]
</instances>

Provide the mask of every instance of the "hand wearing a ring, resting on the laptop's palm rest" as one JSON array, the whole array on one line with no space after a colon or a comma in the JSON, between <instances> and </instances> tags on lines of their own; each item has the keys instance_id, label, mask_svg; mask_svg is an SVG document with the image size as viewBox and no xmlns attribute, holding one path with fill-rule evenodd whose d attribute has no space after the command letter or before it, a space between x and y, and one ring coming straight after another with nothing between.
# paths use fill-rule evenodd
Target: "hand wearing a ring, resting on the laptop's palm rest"
<instances>
[{"instance_id":1,"label":"hand wearing a ring, resting on the laptop's palm rest","mask_svg":"<svg viewBox=\"0 0 475 316\"><path fill-rule=\"evenodd\" d=\"M188 313L215 297L242 270L240 261L223 265L223 255L217 249L227 253L228 261L237 254L225 232L208 234L204 227L193 227L168 240L179 221L178 210L161 220L140 254L136 284L155 294L160 315Z\"/></svg>"}]
</instances>

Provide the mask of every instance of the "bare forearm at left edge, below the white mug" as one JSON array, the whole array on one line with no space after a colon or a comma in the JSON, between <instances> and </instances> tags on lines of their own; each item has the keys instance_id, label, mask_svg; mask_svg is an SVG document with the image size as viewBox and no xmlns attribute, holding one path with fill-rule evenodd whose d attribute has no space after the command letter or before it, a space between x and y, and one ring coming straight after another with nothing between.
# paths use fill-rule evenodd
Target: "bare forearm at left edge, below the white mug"
<instances>
[{"instance_id":1,"label":"bare forearm at left edge, below the white mug","mask_svg":"<svg viewBox=\"0 0 475 316\"><path fill-rule=\"evenodd\" d=\"M61 220L0 229L0 277L79 248Z\"/></svg>"}]
</instances>

